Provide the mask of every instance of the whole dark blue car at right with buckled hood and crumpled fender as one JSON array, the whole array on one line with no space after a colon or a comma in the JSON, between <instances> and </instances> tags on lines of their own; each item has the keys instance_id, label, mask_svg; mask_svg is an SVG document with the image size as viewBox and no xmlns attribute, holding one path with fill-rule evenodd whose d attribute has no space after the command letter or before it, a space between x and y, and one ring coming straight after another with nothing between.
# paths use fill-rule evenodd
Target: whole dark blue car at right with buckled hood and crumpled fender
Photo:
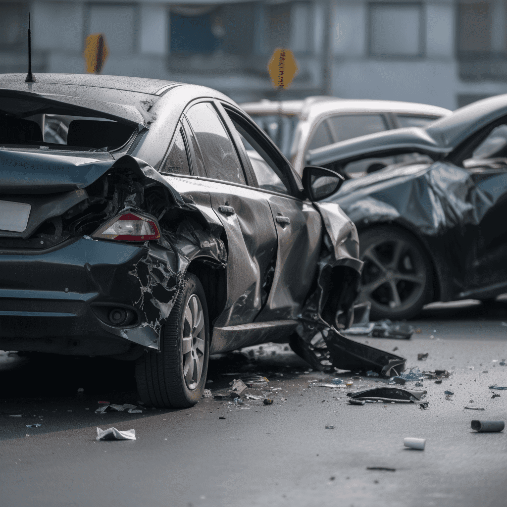
<instances>
[{"instance_id":1,"label":"whole dark blue car at right with buckled hood and crumpled fender","mask_svg":"<svg viewBox=\"0 0 507 507\"><path fill-rule=\"evenodd\" d=\"M325 199L358 229L365 263L360 301L371 302L375 319L402 319L432 301L505 293L507 95L427 127L320 148L309 162L343 172L358 161L404 154L414 160L349 180Z\"/></svg>"}]
</instances>

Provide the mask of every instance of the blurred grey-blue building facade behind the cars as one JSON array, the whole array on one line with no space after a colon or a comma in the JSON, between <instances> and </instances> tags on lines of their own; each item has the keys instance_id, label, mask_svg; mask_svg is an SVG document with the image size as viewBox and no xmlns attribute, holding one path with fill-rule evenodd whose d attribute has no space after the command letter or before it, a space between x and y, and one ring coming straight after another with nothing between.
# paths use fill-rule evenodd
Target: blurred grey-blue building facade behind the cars
<instances>
[{"instance_id":1,"label":"blurred grey-blue building facade behind the cars","mask_svg":"<svg viewBox=\"0 0 507 507\"><path fill-rule=\"evenodd\" d=\"M84 40L103 33L103 74L203 84L237 101L329 94L454 109L507 93L504 0L177 4L152 0L0 0L0 73L84 73ZM292 49L299 74L273 90L266 65Z\"/></svg>"}]
</instances>

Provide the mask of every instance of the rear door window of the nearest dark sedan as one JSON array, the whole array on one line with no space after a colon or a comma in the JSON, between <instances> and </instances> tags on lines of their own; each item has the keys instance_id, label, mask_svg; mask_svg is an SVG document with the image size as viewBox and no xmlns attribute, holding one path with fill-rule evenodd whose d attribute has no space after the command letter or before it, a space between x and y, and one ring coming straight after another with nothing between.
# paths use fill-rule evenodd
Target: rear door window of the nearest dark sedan
<instances>
[{"instance_id":1,"label":"rear door window of the nearest dark sedan","mask_svg":"<svg viewBox=\"0 0 507 507\"><path fill-rule=\"evenodd\" d=\"M201 148L208 177L246 185L234 144L212 104L200 102L186 116Z\"/></svg>"}]
</instances>

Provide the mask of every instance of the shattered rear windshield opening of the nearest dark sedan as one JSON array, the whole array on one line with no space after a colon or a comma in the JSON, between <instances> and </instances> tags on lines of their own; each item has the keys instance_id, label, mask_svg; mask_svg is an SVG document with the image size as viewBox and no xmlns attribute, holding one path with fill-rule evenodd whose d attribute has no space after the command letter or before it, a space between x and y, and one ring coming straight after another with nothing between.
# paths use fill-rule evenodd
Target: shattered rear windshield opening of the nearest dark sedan
<instances>
[{"instance_id":1,"label":"shattered rear windshield opening of the nearest dark sedan","mask_svg":"<svg viewBox=\"0 0 507 507\"><path fill-rule=\"evenodd\" d=\"M121 148L135 127L44 100L0 96L0 147L106 152Z\"/></svg>"}]
</instances>

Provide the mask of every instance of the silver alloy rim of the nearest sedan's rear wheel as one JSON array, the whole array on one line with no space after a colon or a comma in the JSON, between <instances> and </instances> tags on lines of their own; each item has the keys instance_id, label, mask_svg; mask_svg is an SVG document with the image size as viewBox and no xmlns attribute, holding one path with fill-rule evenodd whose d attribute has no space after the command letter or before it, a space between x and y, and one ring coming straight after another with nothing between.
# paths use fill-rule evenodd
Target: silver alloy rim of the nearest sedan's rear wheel
<instances>
[{"instance_id":1,"label":"silver alloy rim of the nearest sedan's rear wheel","mask_svg":"<svg viewBox=\"0 0 507 507\"><path fill-rule=\"evenodd\" d=\"M183 374L190 390L195 389L202 376L205 347L204 313L199 298L192 294L183 319Z\"/></svg>"}]
</instances>

